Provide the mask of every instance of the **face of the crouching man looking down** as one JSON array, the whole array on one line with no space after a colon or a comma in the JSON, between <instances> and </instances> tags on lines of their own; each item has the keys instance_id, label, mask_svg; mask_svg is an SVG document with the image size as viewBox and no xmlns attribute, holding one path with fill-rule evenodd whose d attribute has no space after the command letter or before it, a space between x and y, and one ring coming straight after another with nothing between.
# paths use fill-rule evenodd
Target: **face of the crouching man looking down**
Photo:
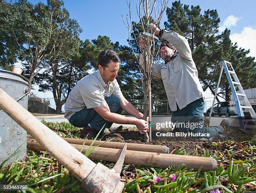
<instances>
[{"instance_id":1,"label":"face of the crouching man looking down","mask_svg":"<svg viewBox=\"0 0 256 193\"><path fill-rule=\"evenodd\" d=\"M114 81L115 78L118 75L118 69L119 69L119 62L111 62L108 63L108 65L103 68L101 65L99 65L100 68L100 74L102 76L102 79L107 82L107 81Z\"/></svg>"}]
</instances>

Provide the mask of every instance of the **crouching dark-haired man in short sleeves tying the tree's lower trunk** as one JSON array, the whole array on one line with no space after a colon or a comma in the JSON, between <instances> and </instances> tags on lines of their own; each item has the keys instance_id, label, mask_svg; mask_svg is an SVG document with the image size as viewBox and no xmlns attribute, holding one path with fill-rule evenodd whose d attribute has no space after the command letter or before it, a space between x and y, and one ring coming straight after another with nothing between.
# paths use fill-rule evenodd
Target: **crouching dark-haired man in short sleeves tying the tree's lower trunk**
<instances>
[{"instance_id":1,"label":"crouching dark-haired man in short sleeves tying the tree's lower trunk","mask_svg":"<svg viewBox=\"0 0 256 193\"><path fill-rule=\"evenodd\" d=\"M75 127L84 127L84 137L95 138L103 125L102 134L113 123L136 125L141 134L148 129L148 121L123 97L115 79L119 62L114 51L102 51L98 57L99 70L79 80L69 93L64 117ZM136 119L120 115L123 110Z\"/></svg>"}]
</instances>

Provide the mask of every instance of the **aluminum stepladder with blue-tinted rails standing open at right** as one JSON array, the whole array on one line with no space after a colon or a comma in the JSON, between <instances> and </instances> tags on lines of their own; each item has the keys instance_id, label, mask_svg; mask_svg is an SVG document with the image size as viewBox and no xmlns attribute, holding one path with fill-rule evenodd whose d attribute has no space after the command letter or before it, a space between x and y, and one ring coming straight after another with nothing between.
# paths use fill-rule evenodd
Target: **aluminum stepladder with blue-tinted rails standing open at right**
<instances>
[{"instance_id":1,"label":"aluminum stepladder with blue-tinted rails standing open at right","mask_svg":"<svg viewBox=\"0 0 256 193\"><path fill-rule=\"evenodd\" d=\"M223 73L223 69L224 69L225 74L226 74L226 76L228 78L228 83L230 85L232 94L234 96L238 117L241 117L243 119L242 121L240 121L241 128L242 129L246 129L246 125L243 122L245 121L246 124L247 124L248 120L244 120L243 109L248 109L251 117L254 118L254 119L256 118L256 113L253 110L253 108L251 106L251 103L249 102L249 100L248 100L248 98L247 98L247 96L246 96L246 94L245 94L245 92L243 90L243 87L242 87L240 81L238 80L238 77L236 75L236 72L235 72L232 64L230 62L228 62L228 61L223 60L223 61L220 62L220 67L221 67L220 76L219 76L219 80L218 80L215 96L214 96L214 99L212 101L212 108L211 108L211 111L210 111L209 119L210 119L210 117L212 115L213 105L215 103L215 99L216 99L216 96L217 96L218 88L219 88L219 85L220 85L220 79L221 79L221 76L222 76L222 73ZM237 86L238 90L236 90L235 85ZM245 106L241 105L241 102L240 102L238 96L240 96L242 98Z\"/></svg>"}]
</instances>

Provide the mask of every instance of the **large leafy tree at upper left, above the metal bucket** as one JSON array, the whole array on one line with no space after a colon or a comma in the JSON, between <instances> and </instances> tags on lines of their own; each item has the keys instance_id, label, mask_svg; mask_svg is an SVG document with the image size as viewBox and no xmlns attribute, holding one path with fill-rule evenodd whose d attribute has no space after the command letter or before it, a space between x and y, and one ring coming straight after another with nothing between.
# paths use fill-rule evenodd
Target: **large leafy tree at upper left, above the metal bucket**
<instances>
[{"instance_id":1,"label":"large leafy tree at upper left, above the metal bucket","mask_svg":"<svg viewBox=\"0 0 256 193\"><path fill-rule=\"evenodd\" d=\"M0 1L0 15L2 63L19 60L28 66L30 86L40 70L76 52L82 30L61 0L36 5L27 0Z\"/></svg>"}]
</instances>

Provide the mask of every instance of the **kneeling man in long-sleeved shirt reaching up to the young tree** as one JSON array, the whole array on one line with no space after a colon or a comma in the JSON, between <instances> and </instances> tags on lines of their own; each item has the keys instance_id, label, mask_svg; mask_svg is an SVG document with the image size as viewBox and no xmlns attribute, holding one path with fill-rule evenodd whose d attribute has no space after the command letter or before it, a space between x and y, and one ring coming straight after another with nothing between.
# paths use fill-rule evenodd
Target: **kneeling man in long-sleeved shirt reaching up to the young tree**
<instances>
[{"instance_id":1,"label":"kneeling man in long-sleeved shirt reaching up to the young tree","mask_svg":"<svg viewBox=\"0 0 256 193\"><path fill-rule=\"evenodd\" d=\"M229 122L224 119L219 126L209 127L210 120L203 117L204 92L188 40L174 31L160 30L153 23L148 25L148 29L168 42L161 45L159 52L164 63L155 65L152 75L161 78L164 83L172 110L172 123L177 123L174 132L181 135L185 133L186 136L188 133L189 137L202 140L213 140L228 129ZM141 49L145 48L145 43L146 37L142 36L139 40ZM204 119L207 120L207 127L203 124Z\"/></svg>"}]
</instances>

